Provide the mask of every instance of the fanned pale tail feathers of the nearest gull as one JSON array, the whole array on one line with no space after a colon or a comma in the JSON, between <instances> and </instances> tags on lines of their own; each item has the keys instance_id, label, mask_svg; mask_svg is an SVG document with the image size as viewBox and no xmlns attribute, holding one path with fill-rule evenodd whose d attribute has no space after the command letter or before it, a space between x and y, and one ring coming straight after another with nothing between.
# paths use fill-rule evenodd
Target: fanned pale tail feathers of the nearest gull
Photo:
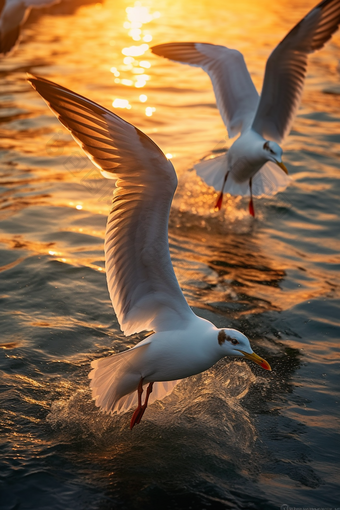
<instances>
[{"instance_id":1,"label":"fanned pale tail feathers of the nearest gull","mask_svg":"<svg viewBox=\"0 0 340 510\"><path fill-rule=\"evenodd\" d=\"M148 343L113 356L92 361L90 387L96 406L107 413L125 413L137 407L137 388L142 377L142 357ZM149 404L169 395L177 381L155 382Z\"/></svg>"}]
</instances>

